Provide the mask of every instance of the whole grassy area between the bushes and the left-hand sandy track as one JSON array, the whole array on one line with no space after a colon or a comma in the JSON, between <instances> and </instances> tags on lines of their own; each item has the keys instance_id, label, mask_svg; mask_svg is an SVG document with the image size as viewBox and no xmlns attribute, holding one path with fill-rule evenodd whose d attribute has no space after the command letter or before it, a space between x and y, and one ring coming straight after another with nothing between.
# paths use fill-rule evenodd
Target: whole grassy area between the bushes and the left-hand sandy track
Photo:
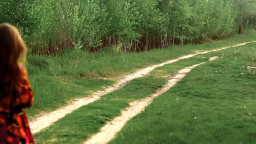
<instances>
[{"instance_id":1,"label":"whole grassy area between the bushes and the left-hand sandy track","mask_svg":"<svg viewBox=\"0 0 256 144\"><path fill-rule=\"evenodd\" d=\"M28 110L32 119L41 112L49 112L115 83L114 77L136 69L159 64L179 56L254 40L253 33L201 45L176 45L142 53L113 53L104 48L98 53L65 51L59 56L28 55L27 69L35 103ZM103 79L104 78L104 79ZM109 79L109 80L106 80Z\"/></svg>"}]
</instances>

